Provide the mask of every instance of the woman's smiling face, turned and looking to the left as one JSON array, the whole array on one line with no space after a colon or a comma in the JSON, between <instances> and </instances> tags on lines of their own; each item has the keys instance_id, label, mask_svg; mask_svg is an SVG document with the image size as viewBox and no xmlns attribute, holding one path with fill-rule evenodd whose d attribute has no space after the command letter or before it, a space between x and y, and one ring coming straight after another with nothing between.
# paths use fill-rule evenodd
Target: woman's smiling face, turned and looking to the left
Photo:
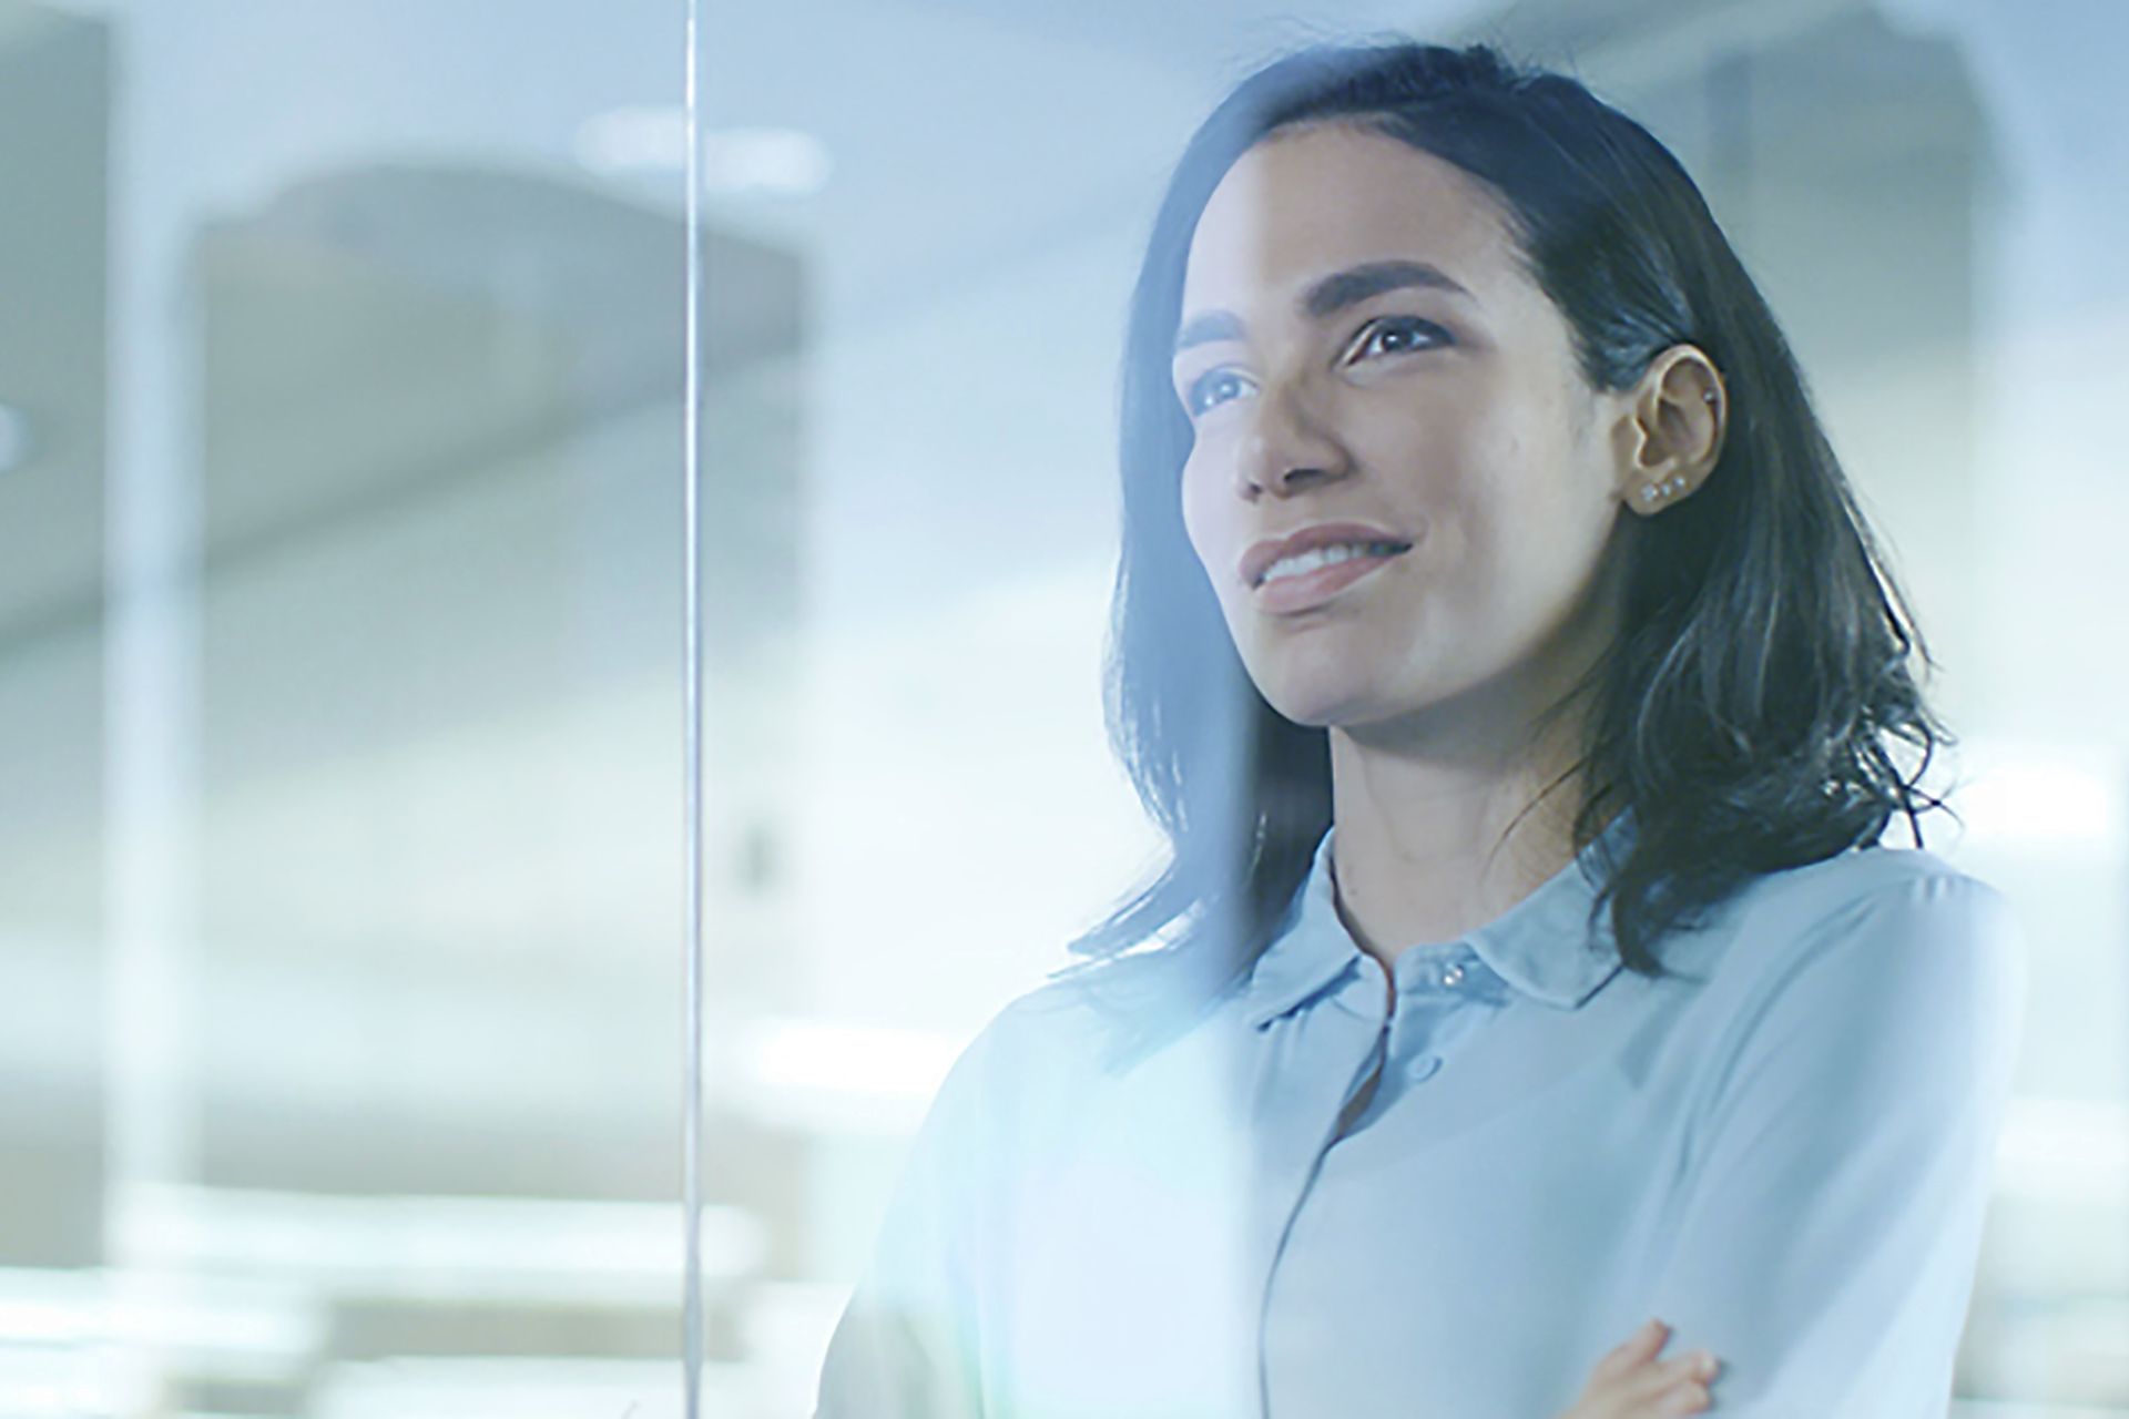
<instances>
[{"instance_id":1,"label":"woman's smiling face, turned and looking to the left","mask_svg":"<svg viewBox=\"0 0 2129 1419\"><path fill-rule=\"evenodd\" d=\"M1475 179L1339 126L1256 145L1199 219L1177 330L1184 521L1282 715L1495 723L1610 638L1631 396L1582 379ZM1328 549L1271 562L1297 534Z\"/></svg>"}]
</instances>

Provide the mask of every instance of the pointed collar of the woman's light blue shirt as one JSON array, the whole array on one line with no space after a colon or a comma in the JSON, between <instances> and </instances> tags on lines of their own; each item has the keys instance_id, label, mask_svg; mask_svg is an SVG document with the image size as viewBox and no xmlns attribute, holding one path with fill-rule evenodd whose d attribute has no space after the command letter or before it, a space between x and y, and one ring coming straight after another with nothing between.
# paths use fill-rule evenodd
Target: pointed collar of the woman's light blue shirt
<instances>
[{"instance_id":1,"label":"pointed collar of the woman's light blue shirt","mask_svg":"<svg viewBox=\"0 0 2129 1419\"><path fill-rule=\"evenodd\" d=\"M1252 1025L1292 1011L1358 964L1360 947L1337 915L1331 877L1331 847L1337 830L1316 845L1307 881L1294 894L1282 934L1271 942L1243 987L1243 1011ZM1399 991L1414 983L1426 957L1463 945L1507 987L1558 1011L1580 1008L1620 970L1612 938L1610 908L1590 925L1590 904L1603 889L1605 855L1624 857L1633 842L1633 808L1627 808L1554 872L1531 896L1454 942L1416 947L1397 957Z\"/></svg>"}]
</instances>

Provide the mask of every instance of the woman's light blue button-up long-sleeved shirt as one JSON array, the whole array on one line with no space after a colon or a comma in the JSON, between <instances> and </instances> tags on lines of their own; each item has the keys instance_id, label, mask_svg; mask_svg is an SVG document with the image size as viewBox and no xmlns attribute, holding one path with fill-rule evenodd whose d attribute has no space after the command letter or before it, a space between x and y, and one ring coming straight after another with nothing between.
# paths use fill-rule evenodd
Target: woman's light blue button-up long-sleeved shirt
<instances>
[{"instance_id":1,"label":"woman's light blue button-up long-sleeved shirt","mask_svg":"<svg viewBox=\"0 0 2129 1419\"><path fill-rule=\"evenodd\" d=\"M1607 838L1631 834L1614 819ZM1648 981L1597 845L1380 962L1331 842L1245 987L1118 1070L1069 979L947 1074L820 1419L1552 1419L1650 1315L1729 1419L1942 1419L2025 1004L1918 849L1756 879ZM1365 1081L1380 1083L1343 1134Z\"/></svg>"}]
</instances>

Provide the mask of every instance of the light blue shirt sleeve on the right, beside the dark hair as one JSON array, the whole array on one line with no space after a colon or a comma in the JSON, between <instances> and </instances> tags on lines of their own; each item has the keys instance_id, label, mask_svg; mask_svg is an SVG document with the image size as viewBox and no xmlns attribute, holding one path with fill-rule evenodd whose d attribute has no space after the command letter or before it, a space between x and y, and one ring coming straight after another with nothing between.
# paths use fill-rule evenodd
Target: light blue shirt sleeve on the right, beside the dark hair
<instances>
[{"instance_id":1,"label":"light blue shirt sleeve on the right, beside the dark hair","mask_svg":"<svg viewBox=\"0 0 2129 1419\"><path fill-rule=\"evenodd\" d=\"M1654 1313L1731 1419L1944 1419L2025 1015L2025 938L1961 874L1880 887L1718 1051Z\"/></svg>"}]
</instances>

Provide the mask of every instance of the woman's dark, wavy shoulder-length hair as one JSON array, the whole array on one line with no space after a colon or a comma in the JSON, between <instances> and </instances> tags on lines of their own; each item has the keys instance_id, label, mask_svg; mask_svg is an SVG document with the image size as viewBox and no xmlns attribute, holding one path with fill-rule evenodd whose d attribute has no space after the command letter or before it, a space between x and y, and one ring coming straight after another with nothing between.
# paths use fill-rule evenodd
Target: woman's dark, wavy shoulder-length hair
<instances>
[{"instance_id":1,"label":"woman's dark, wavy shoulder-length hair","mask_svg":"<svg viewBox=\"0 0 2129 1419\"><path fill-rule=\"evenodd\" d=\"M1895 811L1920 842L1918 811L1946 806L1918 783L1957 740L1910 670L1935 662L1773 313L1669 149L1582 83L1490 47L1309 47L1250 74L1190 138L1130 302L1105 708L1173 853L1060 972L1120 1011L1126 1053L1248 976L1331 825L1328 734L1256 691L1186 538L1192 430L1169 383L1207 198L1252 145L1320 121L1409 143L1499 198L1592 387L1631 387L1673 345L1722 370L1714 470L1665 513L1622 519L1607 564L1624 579L1620 634L1548 711L1586 704L1580 757L1546 789L1580 794L1578 851L1633 813L1595 906L1622 962L1661 976L1658 940L1750 879L1876 845ZM1897 745L1918 751L1912 772Z\"/></svg>"}]
</instances>

